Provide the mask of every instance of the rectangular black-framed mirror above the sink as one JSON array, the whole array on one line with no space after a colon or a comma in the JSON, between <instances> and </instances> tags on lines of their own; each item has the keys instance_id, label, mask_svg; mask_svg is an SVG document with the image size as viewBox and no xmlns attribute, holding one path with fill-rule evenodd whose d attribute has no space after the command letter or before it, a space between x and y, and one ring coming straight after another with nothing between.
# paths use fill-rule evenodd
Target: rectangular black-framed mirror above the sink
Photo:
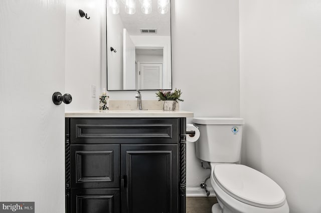
<instances>
[{"instance_id":1,"label":"rectangular black-framed mirror above the sink","mask_svg":"<svg viewBox=\"0 0 321 213\"><path fill-rule=\"evenodd\" d=\"M172 89L170 0L107 0L107 90Z\"/></svg>"}]
</instances>

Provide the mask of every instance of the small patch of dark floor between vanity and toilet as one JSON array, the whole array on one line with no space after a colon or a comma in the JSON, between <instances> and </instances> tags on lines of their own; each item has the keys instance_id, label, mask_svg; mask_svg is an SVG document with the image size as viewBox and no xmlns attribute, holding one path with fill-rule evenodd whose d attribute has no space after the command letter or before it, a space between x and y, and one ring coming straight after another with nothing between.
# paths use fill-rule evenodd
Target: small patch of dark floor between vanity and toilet
<instances>
[{"instance_id":1,"label":"small patch of dark floor between vanity and toilet","mask_svg":"<svg viewBox=\"0 0 321 213\"><path fill-rule=\"evenodd\" d=\"M188 196L186 213L211 213L214 203L217 203L216 196Z\"/></svg>"}]
</instances>

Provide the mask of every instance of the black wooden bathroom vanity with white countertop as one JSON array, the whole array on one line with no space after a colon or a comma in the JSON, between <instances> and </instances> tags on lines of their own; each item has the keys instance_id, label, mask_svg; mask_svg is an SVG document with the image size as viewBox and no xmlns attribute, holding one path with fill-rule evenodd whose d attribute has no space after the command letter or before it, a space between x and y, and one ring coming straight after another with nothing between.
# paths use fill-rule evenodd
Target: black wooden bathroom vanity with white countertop
<instances>
[{"instance_id":1,"label":"black wooden bathroom vanity with white countertop","mask_svg":"<svg viewBox=\"0 0 321 213\"><path fill-rule=\"evenodd\" d=\"M66 212L185 212L188 111L66 113Z\"/></svg>"}]
</instances>

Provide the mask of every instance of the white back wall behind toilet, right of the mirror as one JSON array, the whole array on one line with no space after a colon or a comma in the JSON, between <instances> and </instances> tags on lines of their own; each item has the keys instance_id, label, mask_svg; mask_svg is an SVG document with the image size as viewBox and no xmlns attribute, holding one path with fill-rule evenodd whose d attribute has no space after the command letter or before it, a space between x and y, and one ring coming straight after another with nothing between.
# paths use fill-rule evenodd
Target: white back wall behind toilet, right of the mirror
<instances>
[{"instance_id":1,"label":"white back wall behind toilet, right of the mirror","mask_svg":"<svg viewBox=\"0 0 321 213\"><path fill-rule=\"evenodd\" d=\"M195 117L239 116L238 0L172 3L173 88L183 91L180 107ZM187 187L198 187L209 174L195 144L187 143Z\"/></svg>"}]
</instances>

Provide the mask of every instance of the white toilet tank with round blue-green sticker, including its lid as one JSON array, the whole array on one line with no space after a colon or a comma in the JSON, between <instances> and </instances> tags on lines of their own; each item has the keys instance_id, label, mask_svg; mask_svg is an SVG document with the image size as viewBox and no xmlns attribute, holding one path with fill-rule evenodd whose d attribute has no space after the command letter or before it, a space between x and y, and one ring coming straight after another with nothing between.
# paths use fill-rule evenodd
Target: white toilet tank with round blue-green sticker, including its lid
<instances>
[{"instance_id":1,"label":"white toilet tank with round blue-green sticker, including its lid","mask_svg":"<svg viewBox=\"0 0 321 213\"><path fill-rule=\"evenodd\" d=\"M238 117L195 117L200 138L196 141L196 156L208 162L240 160L244 119Z\"/></svg>"}]
</instances>

